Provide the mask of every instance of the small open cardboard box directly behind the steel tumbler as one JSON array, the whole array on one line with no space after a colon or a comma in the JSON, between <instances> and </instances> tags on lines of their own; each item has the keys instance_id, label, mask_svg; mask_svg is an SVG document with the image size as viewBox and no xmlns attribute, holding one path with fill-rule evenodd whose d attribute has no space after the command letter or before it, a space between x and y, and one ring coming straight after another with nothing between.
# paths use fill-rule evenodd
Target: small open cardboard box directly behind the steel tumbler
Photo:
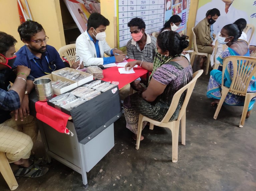
<instances>
[{"instance_id":1,"label":"small open cardboard box directly behind the steel tumbler","mask_svg":"<svg viewBox=\"0 0 256 191\"><path fill-rule=\"evenodd\" d=\"M62 76L58 76L58 75L52 75L52 74L48 74L48 75L45 75L45 76L42 76L42 77L39 77L39 78L36 78L35 80L37 79L41 79L41 78L49 78L51 79L52 81L57 81L57 80L61 80L61 81L66 81L66 82L71 82L70 85L66 86L66 87L63 87L61 89L57 89L57 88L52 88L53 89L53 93L55 95L60 95L60 94L63 94L69 90L72 90L74 88L77 88L78 87L78 83L76 81L73 81L73 80L70 80L70 79L67 79L67 78L63 78Z\"/></svg>"}]
</instances>

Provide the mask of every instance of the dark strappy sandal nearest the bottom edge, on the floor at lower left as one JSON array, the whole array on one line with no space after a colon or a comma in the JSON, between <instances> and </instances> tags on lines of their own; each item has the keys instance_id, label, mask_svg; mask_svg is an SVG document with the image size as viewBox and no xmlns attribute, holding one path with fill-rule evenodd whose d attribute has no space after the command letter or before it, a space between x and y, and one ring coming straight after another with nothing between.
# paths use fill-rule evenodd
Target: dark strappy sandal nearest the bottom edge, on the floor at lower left
<instances>
[{"instance_id":1,"label":"dark strappy sandal nearest the bottom edge, on the floor at lower left","mask_svg":"<svg viewBox=\"0 0 256 191\"><path fill-rule=\"evenodd\" d=\"M23 176L23 177L30 177L30 178L37 178L40 177L46 172L48 172L47 167L39 167L38 165L32 164L31 166L27 168L20 168L16 171L15 176Z\"/></svg>"}]
</instances>

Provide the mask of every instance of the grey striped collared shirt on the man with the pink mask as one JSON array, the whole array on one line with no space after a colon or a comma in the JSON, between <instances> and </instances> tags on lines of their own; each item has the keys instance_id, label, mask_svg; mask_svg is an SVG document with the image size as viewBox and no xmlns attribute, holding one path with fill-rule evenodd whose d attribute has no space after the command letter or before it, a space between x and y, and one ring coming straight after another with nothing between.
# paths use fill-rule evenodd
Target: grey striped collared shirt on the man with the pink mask
<instances>
[{"instance_id":1,"label":"grey striped collared shirt on the man with the pink mask","mask_svg":"<svg viewBox=\"0 0 256 191\"><path fill-rule=\"evenodd\" d=\"M141 50L139 44L133 39L128 41L126 45L127 56L135 60L143 60L153 63L157 39L153 36L149 36L148 34L146 34L146 36L147 41L143 50Z\"/></svg>"}]
</instances>

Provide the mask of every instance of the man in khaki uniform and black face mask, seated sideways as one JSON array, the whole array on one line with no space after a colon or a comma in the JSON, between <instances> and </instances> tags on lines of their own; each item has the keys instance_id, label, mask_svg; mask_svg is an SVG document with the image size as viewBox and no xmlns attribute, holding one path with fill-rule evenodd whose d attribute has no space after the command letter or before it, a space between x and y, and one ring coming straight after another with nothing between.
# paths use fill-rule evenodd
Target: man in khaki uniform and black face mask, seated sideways
<instances>
[{"instance_id":1,"label":"man in khaki uniform and black face mask, seated sideways","mask_svg":"<svg viewBox=\"0 0 256 191\"><path fill-rule=\"evenodd\" d=\"M212 54L212 38L211 38L211 25L213 25L218 17L220 16L220 11L216 8L209 11L207 16L200 21L194 29L197 41L197 48L199 52ZM206 57L203 57L200 61L200 66L203 66L203 62Z\"/></svg>"}]
</instances>

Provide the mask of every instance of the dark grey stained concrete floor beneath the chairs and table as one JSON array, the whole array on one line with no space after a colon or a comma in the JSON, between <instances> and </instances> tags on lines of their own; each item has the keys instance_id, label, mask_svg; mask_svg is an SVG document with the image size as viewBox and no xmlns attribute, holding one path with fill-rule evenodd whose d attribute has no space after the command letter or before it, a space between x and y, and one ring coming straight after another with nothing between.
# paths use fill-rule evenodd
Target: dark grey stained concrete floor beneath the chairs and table
<instances>
[{"instance_id":1,"label":"dark grey stained concrete floor beneath the chairs and table","mask_svg":"<svg viewBox=\"0 0 256 191\"><path fill-rule=\"evenodd\" d=\"M87 173L87 189L79 173L53 160L46 175L17 178L16 190L256 190L256 113L252 111L244 128L238 127L242 107L223 106L214 120L216 107L205 95L208 80L209 74L202 74L187 107L186 145L179 143L177 163L172 162L168 129L146 127L145 139L136 150L136 141L121 117L114 123L115 146ZM37 155L43 152L40 138L35 151ZM9 190L1 175L0 190Z\"/></svg>"}]
</instances>

